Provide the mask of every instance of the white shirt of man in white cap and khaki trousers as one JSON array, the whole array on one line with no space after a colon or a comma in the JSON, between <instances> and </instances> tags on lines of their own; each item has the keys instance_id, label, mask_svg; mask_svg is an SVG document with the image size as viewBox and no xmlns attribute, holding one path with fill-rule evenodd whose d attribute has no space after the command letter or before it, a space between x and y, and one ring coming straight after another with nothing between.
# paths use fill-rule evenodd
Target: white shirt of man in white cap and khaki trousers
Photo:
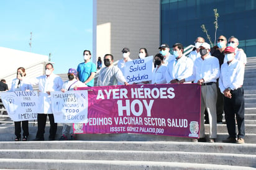
<instances>
[{"instance_id":1,"label":"white shirt of man in white cap and khaki trousers","mask_svg":"<svg viewBox=\"0 0 256 170\"><path fill-rule=\"evenodd\" d=\"M204 83L216 82L219 78L219 60L211 55L206 56L204 60L199 57L194 61L193 74L185 81L194 81L204 79Z\"/></svg>"}]
</instances>

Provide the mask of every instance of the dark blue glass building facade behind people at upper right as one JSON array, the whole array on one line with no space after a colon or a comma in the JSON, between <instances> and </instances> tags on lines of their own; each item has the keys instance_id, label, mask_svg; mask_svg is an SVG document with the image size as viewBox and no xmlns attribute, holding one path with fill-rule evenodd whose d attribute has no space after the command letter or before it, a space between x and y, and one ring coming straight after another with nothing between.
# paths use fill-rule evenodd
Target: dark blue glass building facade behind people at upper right
<instances>
[{"instance_id":1,"label":"dark blue glass building facade behind people at upper right","mask_svg":"<svg viewBox=\"0 0 256 170\"><path fill-rule=\"evenodd\" d=\"M247 57L256 56L256 1L255 0L161 0L161 42L169 45L180 42L188 46L196 37L204 37L205 25L214 44L214 11L219 14L216 37L234 35L239 39ZM217 43L217 40L216 40Z\"/></svg>"}]
</instances>

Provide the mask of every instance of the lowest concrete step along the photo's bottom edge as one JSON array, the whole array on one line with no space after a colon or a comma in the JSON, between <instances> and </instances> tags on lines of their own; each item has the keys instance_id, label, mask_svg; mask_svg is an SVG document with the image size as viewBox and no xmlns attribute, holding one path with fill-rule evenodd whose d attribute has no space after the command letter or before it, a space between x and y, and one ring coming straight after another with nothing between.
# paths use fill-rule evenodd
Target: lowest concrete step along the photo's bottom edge
<instances>
[{"instance_id":1,"label":"lowest concrete step along the photo's bottom edge","mask_svg":"<svg viewBox=\"0 0 256 170\"><path fill-rule=\"evenodd\" d=\"M247 166L154 161L94 161L49 159L0 159L2 169L255 169ZM206 168L207 167L207 168Z\"/></svg>"}]
</instances>

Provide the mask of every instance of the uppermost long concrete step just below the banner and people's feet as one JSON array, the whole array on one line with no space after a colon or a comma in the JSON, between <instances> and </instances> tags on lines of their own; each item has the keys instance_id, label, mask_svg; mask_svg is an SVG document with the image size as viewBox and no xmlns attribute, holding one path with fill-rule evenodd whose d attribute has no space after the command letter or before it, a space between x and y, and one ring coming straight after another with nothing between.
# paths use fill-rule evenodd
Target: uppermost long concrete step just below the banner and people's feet
<instances>
[{"instance_id":1,"label":"uppermost long concrete step just below the banner and people's feet","mask_svg":"<svg viewBox=\"0 0 256 170\"><path fill-rule=\"evenodd\" d=\"M79 146L79 147L78 147ZM183 151L201 153L255 154L256 144L193 143L177 141L1 141L4 150L117 150ZM2 150L2 151L4 151ZM4 154L1 154L4 155Z\"/></svg>"}]
</instances>

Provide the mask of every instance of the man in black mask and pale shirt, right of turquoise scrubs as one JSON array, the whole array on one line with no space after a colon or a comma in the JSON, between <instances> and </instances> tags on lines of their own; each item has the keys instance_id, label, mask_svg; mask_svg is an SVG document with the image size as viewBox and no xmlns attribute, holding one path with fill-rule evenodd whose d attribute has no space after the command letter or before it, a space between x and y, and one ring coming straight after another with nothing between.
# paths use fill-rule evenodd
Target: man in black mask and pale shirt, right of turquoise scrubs
<instances>
[{"instance_id":1,"label":"man in black mask and pale shirt, right of turquoise scrubs","mask_svg":"<svg viewBox=\"0 0 256 170\"><path fill-rule=\"evenodd\" d=\"M119 69L117 66L114 66L113 63L114 56L111 54L106 54L104 56L104 65L106 67L99 71L97 86L116 86L117 82L128 85L121 69Z\"/></svg>"}]
</instances>

